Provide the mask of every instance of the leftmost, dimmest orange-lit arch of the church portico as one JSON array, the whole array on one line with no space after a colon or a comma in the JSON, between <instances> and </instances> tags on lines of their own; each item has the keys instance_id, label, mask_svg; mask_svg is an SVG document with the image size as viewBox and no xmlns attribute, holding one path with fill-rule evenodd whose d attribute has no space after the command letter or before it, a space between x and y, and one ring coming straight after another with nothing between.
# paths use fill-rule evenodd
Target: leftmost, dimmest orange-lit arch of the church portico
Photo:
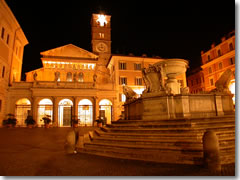
<instances>
[{"instance_id":1,"label":"leftmost, dimmest orange-lit arch of the church portico","mask_svg":"<svg viewBox=\"0 0 240 180\"><path fill-rule=\"evenodd\" d=\"M15 116L17 125L26 126L25 119L31 114L31 102L27 98L19 99L16 102Z\"/></svg>"}]
</instances>

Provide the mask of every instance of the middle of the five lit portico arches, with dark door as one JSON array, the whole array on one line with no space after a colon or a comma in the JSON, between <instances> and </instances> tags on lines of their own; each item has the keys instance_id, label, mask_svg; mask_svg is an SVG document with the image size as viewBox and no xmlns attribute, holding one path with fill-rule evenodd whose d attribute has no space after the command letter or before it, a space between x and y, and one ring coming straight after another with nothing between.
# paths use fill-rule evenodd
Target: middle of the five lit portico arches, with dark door
<instances>
[{"instance_id":1,"label":"middle of the five lit portico arches, with dark door","mask_svg":"<svg viewBox=\"0 0 240 180\"><path fill-rule=\"evenodd\" d=\"M73 102L70 99L63 99L58 104L58 124L60 127L71 126Z\"/></svg>"}]
</instances>

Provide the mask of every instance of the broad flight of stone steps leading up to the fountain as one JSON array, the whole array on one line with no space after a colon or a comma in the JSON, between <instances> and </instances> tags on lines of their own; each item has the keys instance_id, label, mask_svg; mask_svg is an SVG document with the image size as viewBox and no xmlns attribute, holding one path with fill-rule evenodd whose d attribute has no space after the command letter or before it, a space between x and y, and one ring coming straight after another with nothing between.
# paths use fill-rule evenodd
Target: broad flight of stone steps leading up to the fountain
<instances>
[{"instance_id":1,"label":"broad flight of stone steps leading up to the fountain","mask_svg":"<svg viewBox=\"0 0 240 180\"><path fill-rule=\"evenodd\" d=\"M202 164L202 137L214 130L222 164L235 162L235 117L120 120L94 132L81 152L161 163Z\"/></svg>"}]
</instances>

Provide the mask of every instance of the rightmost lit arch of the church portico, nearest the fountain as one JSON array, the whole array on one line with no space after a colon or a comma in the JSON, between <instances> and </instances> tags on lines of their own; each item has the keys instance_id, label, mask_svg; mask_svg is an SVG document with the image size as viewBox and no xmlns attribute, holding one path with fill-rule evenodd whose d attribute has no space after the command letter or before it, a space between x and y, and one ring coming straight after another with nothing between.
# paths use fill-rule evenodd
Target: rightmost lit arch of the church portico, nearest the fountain
<instances>
[{"instance_id":1,"label":"rightmost lit arch of the church portico, nearest the fountain","mask_svg":"<svg viewBox=\"0 0 240 180\"><path fill-rule=\"evenodd\" d=\"M108 99L102 99L99 102L99 116L106 117L106 123L111 124L112 121L112 102Z\"/></svg>"}]
</instances>

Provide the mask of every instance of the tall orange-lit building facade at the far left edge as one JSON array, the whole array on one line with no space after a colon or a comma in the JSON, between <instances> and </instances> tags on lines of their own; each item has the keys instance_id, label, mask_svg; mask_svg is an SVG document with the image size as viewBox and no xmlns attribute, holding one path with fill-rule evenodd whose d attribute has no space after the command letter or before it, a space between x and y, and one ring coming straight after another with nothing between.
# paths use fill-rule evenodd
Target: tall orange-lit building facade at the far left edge
<instances>
[{"instance_id":1,"label":"tall orange-lit building facade at the far left edge","mask_svg":"<svg viewBox=\"0 0 240 180\"><path fill-rule=\"evenodd\" d=\"M23 49L28 44L22 28L4 0L0 0L0 123L7 113L7 89L20 81Z\"/></svg>"}]
</instances>

